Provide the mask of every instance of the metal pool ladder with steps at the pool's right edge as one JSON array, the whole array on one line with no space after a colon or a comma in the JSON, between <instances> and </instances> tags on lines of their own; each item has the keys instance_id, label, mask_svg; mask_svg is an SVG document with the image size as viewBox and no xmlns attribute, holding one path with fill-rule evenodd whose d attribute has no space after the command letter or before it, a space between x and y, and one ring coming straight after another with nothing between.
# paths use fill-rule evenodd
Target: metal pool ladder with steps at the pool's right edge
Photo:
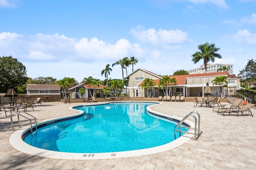
<instances>
[{"instance_id":1,"label":"metal pool ladder with steps at the pool's right edge","mask_svg":"<svg viewBox=\"0 0 256 170\"><path fill-rule=\"evenodd\" d=\"M198 116L198 118L196 118L195 115L196 114ZM182 126L182 123L188 119L188 117L193 117L195 120L195 127L186 127L186 126ZM198 122L198 123L197 123ZM177 127L179 127L179 129L177 130ZM189 129L193 129L194 132L188 132L188 131L184 131L181 130L180 128L189 128ZM174 140L176 139L176 132L179 132L179 135L181 135L181 132L184 133L189 133L189 134L194 134L194 141L197 141L197 138L200 136L200 134L202 134L202 132L200 132L200 115L197 112L190 112L188 115L186 115L174 128Z\"/></svg>"}]
</instances>

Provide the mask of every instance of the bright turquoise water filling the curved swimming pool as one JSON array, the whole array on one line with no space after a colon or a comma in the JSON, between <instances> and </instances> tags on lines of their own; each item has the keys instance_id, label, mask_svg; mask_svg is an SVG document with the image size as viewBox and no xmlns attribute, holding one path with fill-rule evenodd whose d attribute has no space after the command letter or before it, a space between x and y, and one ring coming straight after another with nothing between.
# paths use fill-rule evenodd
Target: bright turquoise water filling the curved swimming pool
<instances>
[{"instance_id":1,"label":"bright turquoise water filling the curved swimming pool","mask_svg":"<svg viewBox=\"0 0 256 170\"><path fill-rule=\"evenodd\" d=\"M176 122L149 115L146 107L156 103L109 103L79 106L82 117L38 128L24 141L46 150L102 153L138 150L174 140ZM186 130L186 129L182 129Z\"/></svg>"}]
</instances>

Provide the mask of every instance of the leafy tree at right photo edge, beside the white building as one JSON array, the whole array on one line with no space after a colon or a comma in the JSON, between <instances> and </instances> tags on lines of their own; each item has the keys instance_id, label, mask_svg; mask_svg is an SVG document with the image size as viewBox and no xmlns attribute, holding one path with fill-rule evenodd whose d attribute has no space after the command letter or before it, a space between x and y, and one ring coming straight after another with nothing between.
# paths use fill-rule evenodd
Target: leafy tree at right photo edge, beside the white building
<instances>
[{"instance_id":1,"label":"leafy tree at right photo edge, beside the white building","mask_svg":"<svg viewBox=\"0 0 256 170\"><path fill-rule=\"evenodd\" d=\"M240 71L240 70L239 70ZM248 60L247 65L244 69L240 71L238 76L241 76L242 79L245 79L248 82L256 80L256 60Z\"/></svg>"}]
</instances>

